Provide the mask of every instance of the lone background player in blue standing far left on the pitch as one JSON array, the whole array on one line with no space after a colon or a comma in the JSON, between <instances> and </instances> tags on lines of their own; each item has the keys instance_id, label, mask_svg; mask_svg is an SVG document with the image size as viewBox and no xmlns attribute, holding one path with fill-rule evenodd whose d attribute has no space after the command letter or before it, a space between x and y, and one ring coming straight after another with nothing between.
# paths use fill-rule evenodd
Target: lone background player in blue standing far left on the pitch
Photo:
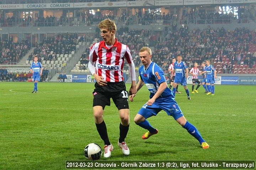
<instances>
[{"instance_id":1,"label":"lone background player in blue standing far left on the pitch","mask_svg":"<svg viewBox=\"0 0 256 170\"><path fill-rule=\"evenodd\" d=\"M38 93L37 82L40 81L40 76L42 76L42 65L40 62L37 62L37 56L34 56L34 62L31 63L30 71L33 74L34 81L34 90L32 93Z\"/></svg>"}]
</instances>

